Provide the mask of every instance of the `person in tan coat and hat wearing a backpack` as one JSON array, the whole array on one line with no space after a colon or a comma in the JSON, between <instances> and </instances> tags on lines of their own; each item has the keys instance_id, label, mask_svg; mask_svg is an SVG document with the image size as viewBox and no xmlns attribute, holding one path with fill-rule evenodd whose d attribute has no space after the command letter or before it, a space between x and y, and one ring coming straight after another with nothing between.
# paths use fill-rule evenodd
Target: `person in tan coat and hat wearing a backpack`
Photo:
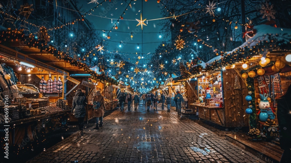
<instances>
[{"instance_id":1,"label":"person in tan coat and hat wearing a backpack","mask_svg":"<svg viewBox=\"0 0 291 163\"><path fill-rule=\"evenodd\" d=\"M99 127L103 126L103 116L104 111L106 110L104 96L101 95L100 90L96 92L96 95L93 98L93 108L93 116L96 118L96 127L94 129L99 129Z\"/></svg>"}]
</instances>

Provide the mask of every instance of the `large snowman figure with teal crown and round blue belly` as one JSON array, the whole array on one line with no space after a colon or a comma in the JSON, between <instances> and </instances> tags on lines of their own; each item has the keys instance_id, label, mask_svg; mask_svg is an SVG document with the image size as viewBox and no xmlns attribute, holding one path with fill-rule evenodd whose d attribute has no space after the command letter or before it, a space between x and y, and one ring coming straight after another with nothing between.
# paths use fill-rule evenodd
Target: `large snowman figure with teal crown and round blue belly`
<instances>
[{"instance_id":1,"label":"large snowman figure with teal crown and round blue belly","mask_svg":"<svg viewBox=\"0 0 291 163\"><path fill-rule=\"evenodd\" d=\"M271 98L266 93L260 94L258 99L260 111L258 112L259 118L262 122L275 123L276 113L270 108Z\"/></svg>"}]
</instances>

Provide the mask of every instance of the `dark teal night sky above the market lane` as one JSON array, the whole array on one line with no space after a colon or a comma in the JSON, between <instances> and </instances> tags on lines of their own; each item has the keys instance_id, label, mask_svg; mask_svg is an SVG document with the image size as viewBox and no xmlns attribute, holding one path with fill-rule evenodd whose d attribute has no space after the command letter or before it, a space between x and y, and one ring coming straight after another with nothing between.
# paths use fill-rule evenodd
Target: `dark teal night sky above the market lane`
<instances>
[{"instance_id":1,"label":"dark teal night sky above the market lane","mask_svg":"<svg viewBox=\"0 0 291 163\"><path fill-rule=\"evenodd\" d=\"M157 1L131 1L131 6L128 6L130 1L118 1L114 0L106 1L102 3L102 6L99 5L98 8L97 3L89 3L90 1L79 1L79 6L83 5L84 10L91 11L92 15L86 15L86 19L93 23L95 29L100 33L102 36L105 32L105 41L107 41L108 46L104 49L109 51L118 51L120 54L124 56L125 59L130 58L130 62L135 62L137 56L147 56L143 59L143 61L139 60L140 63L147 63L147 59L151 54L146 55L148 53L154 53L157 46L162 43L163 41L168 41L170 38L164 38L163 33L161 31L162 26L159 26L159 22L161 20L153 20L149 21L148 23L145 21L147 26L143 26L143 30L141 30L141 26L136 26L138 22L135 19L140 20L140 16L142 13L143 19L151 20L162 18L161 11L164 9L162 7L162 3L157 3ZM98 1L101 3L102 1ZM89 4L87 4L89 3ZM109 6L112 4L114 6ZM128 6L128 7L127 7ZM93 9L95 8L95 9ZM125 10L127 8L127 10ZM91 10L93 9L93 10ZM123 12L125 11L125 15ZM108 17L110 19L97 17L94 15L100 15L104 17ZM123 20L119 20L119 23L116 23L120 16L123 16ZM130 21L134 20L134 21ZM114 29L113 26L116 24L118 29ZM111 30L111 32L109 32ZM134 31L134 32L133 32ZM131 33L133 32L133 38L131 38ZM159 38L161 32L161 38ZM109 40L107 39L107 34L111 37ZM155 43L159 42L159 43ZM121 43L121 47L119 47ZM139 45L139 49L137 49ZM136 55L138 53L138 55ZM140 55L143 54L143 55Z\"/></svg>"}]
</instances>

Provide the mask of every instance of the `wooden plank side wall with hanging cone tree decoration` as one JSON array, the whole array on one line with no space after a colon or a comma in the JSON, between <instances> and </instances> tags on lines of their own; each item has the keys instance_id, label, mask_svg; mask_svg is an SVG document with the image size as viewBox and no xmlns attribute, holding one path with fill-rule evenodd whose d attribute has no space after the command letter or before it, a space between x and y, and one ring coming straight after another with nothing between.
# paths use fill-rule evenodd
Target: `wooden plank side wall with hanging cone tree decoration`
<instances>
[{"instance_id":1,"label":"wooden plank side wall with hanging cone tree decoration","mask_svg":"<svg viewBox=\"0 0 291 163\"><path fill-rule=\"evenodd\" d=\"M248 95L246 85L233 69L226 69L222 74L226 127L249 126L249 116L245 112L249 106L245 100ZM238 76L242 90L234 89L235 76Z\"/></svg>"}]
</instances>

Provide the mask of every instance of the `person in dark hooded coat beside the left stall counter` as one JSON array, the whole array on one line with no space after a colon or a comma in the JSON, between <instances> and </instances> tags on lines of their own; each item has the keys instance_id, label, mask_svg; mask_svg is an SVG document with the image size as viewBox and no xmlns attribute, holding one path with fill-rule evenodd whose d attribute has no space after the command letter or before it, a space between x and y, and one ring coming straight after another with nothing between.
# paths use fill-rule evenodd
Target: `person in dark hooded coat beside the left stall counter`
<instances>
[{"instance_id":1,"label":"person in dark hooded coat beside the left stall counter","mask_svg":"<svg viewBox=\"0 0 291 163\"><path fill-rule=\"evenodd\" d=\"M78 118L79 123L79 134L83 136L83 128L84 128L84 118L86 115L86 95L82 92L80 88L77 89L76 94L73 98L73 104L72 104L72 114L74 114L75 118Z\"/></svg>"}]
</instances>

